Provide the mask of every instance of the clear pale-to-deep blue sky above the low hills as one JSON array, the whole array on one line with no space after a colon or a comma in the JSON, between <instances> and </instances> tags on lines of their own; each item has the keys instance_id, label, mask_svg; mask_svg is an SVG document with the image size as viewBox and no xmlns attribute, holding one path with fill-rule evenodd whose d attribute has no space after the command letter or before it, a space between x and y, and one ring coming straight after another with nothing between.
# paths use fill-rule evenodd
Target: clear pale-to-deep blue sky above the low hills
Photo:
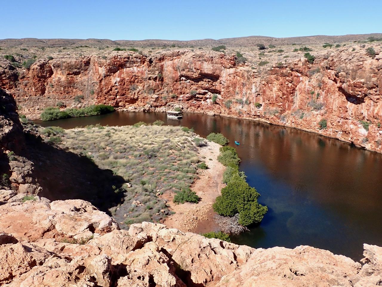
<instances>
[{"instance_id":1,"label":"clear pale-to-deep blue sky above the low hills","mask_svg":"<svg viewBox=\"0 0 382 287\"><path fill-rule=\"evenodd\" d=\"M3 0L0 7L0 39L382 33L382 0Z\"/></svg>"}]
</instances>

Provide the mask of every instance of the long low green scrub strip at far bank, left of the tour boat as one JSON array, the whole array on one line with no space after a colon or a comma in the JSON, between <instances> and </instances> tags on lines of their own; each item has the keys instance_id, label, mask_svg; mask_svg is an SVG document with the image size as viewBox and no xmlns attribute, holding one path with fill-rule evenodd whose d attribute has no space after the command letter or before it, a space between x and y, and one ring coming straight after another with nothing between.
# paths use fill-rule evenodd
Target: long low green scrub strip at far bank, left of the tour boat
<instances>
[{"instance_id":1,"label":"long low green scrub strip at far bank, left of the tour boat","mask_svg":"<svg viewBox=\"0 0 382 287\"><path fill-rule=\"evenodd\" d=\"M56 119L66 119L68 117L85 117L96 116L100 114L107 114L114 111L112 106L98 104L92 105L80 109L65 109L61 111L59 108L49 107L44 109L41 113L41 119L43 121L52 121Z\"/></svg>"}]
</instances>

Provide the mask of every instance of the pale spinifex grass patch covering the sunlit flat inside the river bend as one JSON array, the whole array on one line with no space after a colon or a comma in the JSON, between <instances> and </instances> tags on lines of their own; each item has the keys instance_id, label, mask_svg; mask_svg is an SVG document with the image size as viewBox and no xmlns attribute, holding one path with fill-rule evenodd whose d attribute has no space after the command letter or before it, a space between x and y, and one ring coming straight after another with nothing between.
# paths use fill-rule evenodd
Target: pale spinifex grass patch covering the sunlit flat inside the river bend
<instances>
[{"instance_id":1,"label":"pale spinifex grass patch covering the sunlit flat inside the river bend","mask_svg":"<svg viewBox=\"0 0 382 287\"><path fill-rule=\"evenodd\" d=\"M71 152L125 179L124 190L115 191L125 192L123 205L110 212L126 225L158 222L170 214L165 201L158 197L163 192L174 192L179 203L199 200L189 189L200 162L194 135L181 127L143 124L89 126L66 130L62 135L62 144Z\"/></svg>"}]
</instances>

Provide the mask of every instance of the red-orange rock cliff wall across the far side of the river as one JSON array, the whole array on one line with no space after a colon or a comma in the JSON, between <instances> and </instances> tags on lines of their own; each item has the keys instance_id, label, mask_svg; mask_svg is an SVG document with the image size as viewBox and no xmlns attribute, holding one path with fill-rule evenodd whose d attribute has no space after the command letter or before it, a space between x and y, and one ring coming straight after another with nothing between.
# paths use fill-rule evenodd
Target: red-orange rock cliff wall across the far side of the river
<instances>
[{"instance_id":1,"label":"red-orange rock cliff wall across the far side of the river","mask_svg":"<svg viewBox=\"0 0 382 287\"><path fill-rule=\"evenodd\" d=\"M374 58L359 47L356 52L341 47L318 51L313 64L296 58L273 67L238 65L234 55L212 51L68 55L37 61L18 82L7 81L11 75L3 73L1 85L12 90L23 113L34 117L58 101L128 111L181 106L318 132L382 152L382 45L372 45Z\"/></svg>"}]
</instances>

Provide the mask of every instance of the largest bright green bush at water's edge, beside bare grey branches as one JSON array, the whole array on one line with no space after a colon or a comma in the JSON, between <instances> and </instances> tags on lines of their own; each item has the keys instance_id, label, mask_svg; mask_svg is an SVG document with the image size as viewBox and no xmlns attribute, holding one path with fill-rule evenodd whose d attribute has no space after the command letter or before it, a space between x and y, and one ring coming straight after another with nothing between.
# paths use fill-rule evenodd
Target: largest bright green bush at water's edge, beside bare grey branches
<instances>
[{"instance_id":1,"label":"largest bright green bush at water's edge, beside bare grey branches","mask_svg":"<svg viewBox=\"0 0 382 287\"><path fill-rule=\"evenodd\" d=\"M227 186L222 189L222 195L216 198L213 205L215 212L220 215L232 217L239 214L239 224L248 226L260 223L267 206L257 202L260 194L251 188L238 174L233 175Z\"/></svg>"}]
</instances>

